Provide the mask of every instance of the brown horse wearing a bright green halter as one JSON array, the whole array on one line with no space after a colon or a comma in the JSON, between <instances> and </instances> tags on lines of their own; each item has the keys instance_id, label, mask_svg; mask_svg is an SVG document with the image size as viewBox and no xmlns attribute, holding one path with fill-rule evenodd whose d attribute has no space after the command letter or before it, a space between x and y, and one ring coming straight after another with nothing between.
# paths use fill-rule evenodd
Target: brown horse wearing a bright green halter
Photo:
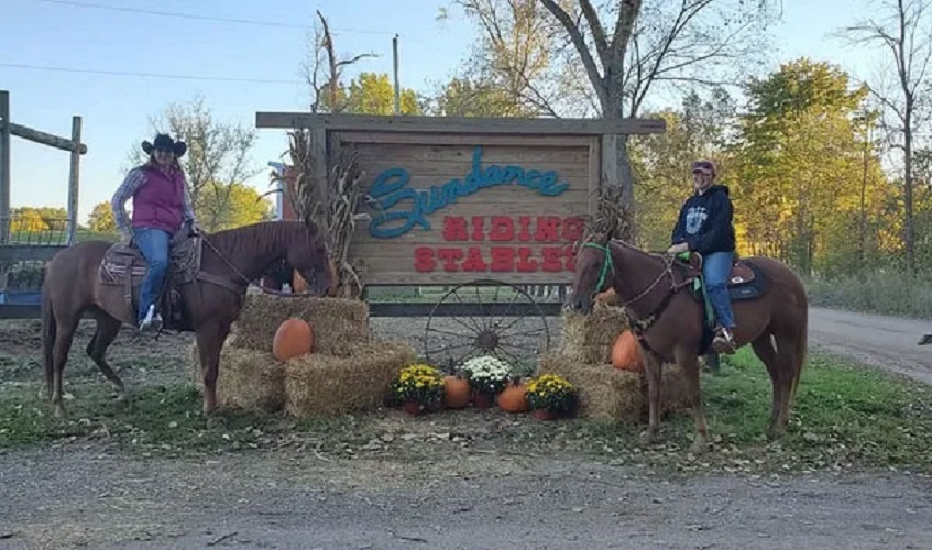
<instances>
[{"instance_id":1,"label":"brown horse wearing a bright green halter","mask_svg":"<svg viewBox=\"0 0 932 550\"><path fill-rule=\"evenodd\" d=\"M704 328L701 293L690 288L695 272L665 254L650 254L610 235L586 240L575 258L571 307L588 314L597 293L614 288L638 337L648 384L647 440L659 435L660 370L677 363L687 380L695 420L692 451L706 449L705 416L699 384L699 355L711 331ZM747 343L764 362L772 385L772 435L786 432L791 404L805 362L809 306L802 282L787 265L769 257L743 258L732 271L745 282L728 284L737 321L737 348ZM744 296L742 296L744 294Z\"/></svg>"}]
</instances>

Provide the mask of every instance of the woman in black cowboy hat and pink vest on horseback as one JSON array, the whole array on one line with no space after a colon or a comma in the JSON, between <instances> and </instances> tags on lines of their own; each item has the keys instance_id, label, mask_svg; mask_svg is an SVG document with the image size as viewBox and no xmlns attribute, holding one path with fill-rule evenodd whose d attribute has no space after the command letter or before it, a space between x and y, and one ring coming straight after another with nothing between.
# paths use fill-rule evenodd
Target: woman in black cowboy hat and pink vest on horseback
<instances>
[{"instance_id":1,"label":"woman in black cowboy hat and pink vest on horseback","mask_svg":"<svg viewBox=\"0 0 932 550\"><path fill-rule=\"evenodd\" d=\"M185 174L178 158L187 151L183 141L158 134L152 143L142 142L149 162L131 169L110 201L123 243L135 242L149 271L142 280L139 300L139 329L162 329L158 292L168 271L168 243L172 235L187 223L197 232L194 208ZM132 220L124 204L132 197Z\"/></svg>"}]
</instances>

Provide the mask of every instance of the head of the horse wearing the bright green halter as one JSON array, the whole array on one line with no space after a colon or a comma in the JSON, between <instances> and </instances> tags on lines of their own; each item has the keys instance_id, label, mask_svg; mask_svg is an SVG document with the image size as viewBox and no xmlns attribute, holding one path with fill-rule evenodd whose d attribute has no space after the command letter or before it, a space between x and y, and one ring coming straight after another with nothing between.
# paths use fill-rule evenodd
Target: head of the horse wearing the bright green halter
<instances>
[{"instance_id":1,"label":"head of the horse wearing the bright green halter","mask_svg":"<svg viewBox=\"0 0 932 550\"><path fill-rule=\"evenodd\" d=\"M575 275L570 301L573 310L588 315L592 311L595 295L614 286L615 268L608 245L617 227L618 222L615 220L605 233L586 237L580 245L575 255Z\"/></svg>"}]
</instances>

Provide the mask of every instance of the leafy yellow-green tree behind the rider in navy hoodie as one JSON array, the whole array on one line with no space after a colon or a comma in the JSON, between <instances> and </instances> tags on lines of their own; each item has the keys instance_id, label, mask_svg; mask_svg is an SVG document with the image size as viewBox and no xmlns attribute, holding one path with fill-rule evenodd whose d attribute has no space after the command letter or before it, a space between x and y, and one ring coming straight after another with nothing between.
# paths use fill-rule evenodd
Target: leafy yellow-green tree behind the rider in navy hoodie
<instances>
[{"instance_id":1,"label":"leafy yellow-green tree behind the rider in navy hoodie","mask_svg":"<svg viewBox=\"0 0 932 550\"><path fill-rule=\"evenodd\" d=\"M783 258L804 274L819 267L820 252L823 260L863 257L858 221L865 209L877 219L885 201L879 161L865 156L865 122L857 121L866 88L852 88L837 67L801 58L750 79L747 95L733 197L752 253ZM868 180L879 196L866 194Z\"/></svg>"}]
</instances>

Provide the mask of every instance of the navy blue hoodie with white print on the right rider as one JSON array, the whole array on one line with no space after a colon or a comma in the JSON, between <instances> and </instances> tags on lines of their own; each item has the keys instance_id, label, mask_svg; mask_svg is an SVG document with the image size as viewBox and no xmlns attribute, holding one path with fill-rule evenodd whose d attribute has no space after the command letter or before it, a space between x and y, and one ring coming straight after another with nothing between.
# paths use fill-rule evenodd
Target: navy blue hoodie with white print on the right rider
<instances>
[{"instance_id":1,"label":"navy blue hoodie with white print on the right rider","mask_svg":"<svg viewBox=\"0 0 932 550\"><path fill-rule=\"evenodd\" d=\"M672 244L686 242L689 250L703 255L734 252L735 228L732 218L728 187L715 184L702 195L693 194L687 199L673 228Z\"/></svg>"}]
</instances>

